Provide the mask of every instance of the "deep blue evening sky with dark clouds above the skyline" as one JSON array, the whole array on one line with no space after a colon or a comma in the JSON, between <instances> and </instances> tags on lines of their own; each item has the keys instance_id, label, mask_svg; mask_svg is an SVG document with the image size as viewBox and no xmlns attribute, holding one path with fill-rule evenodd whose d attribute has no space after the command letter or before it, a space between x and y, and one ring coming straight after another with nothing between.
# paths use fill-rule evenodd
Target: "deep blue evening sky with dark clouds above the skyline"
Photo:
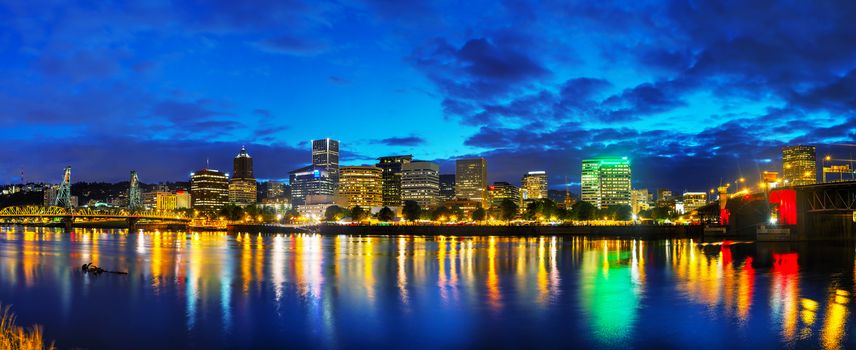
<instances>
[{"instance_id":1,"label":"deep blue evening sky with dark clouds above the skyline","mask_svg":"<svg viewBox=\"0 0 856 350\"><path fill-rule=\"evenodd\" d=\"M706 191L781 147L856 151L856 2L0 0L0 183L260 179L341 141L490 181L627 156ZM567 179L567 180L566 180Z\"/></svg>"}]
</instances>

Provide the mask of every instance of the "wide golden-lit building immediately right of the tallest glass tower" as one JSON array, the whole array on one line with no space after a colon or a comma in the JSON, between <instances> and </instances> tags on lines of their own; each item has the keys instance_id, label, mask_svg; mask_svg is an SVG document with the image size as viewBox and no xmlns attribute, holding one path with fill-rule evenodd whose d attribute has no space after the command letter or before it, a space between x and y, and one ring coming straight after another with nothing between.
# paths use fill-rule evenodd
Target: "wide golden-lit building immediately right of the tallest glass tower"
<instances>
[{"instance_id":1,"label":"wide golden-lit building immediately right of the tallest glass tower","mask_svg":"<svg viewBox=\"0 0 856 350\"><path fill-rule=\"evenodd\" d=\"M346 208L383 205L383 169L373 166L343 166L339 168L337 202Z\"/></svg>"}]
</instances>

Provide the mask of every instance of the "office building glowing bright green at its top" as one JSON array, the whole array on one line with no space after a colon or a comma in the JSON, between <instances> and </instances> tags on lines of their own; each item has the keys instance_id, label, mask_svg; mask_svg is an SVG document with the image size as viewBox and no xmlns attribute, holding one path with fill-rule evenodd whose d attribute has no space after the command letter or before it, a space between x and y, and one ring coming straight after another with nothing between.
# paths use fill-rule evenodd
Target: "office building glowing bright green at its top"
<instances>
[{"instance_id":1,"label":"office building glowing bright green at its top","mask_svg":"<svg viewBox=\"0 0 856 350\"><path fill-rule=\"evenodd\" d=\"M581 196L597 208L630 205L630 161L627 157L599 157L582 163Z\"/></svg>"}]
</instances>

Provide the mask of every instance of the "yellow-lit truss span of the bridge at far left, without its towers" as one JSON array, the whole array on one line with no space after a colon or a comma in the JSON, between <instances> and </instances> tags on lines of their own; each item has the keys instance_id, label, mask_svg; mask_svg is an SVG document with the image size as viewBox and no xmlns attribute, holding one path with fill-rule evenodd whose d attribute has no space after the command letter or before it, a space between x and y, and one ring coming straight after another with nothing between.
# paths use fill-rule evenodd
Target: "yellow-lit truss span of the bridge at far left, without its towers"
<instances>
[{"instance_id":1,"label":"yellow-lit truss span of the bridge at far left, without its towers","mask_svg":"<svg viewBox=\"0 0 856 350\"><path fill-rule=\"evenodd\" d=\"M123 208L69 209L59 206L16 206L0 210L0 222L12 224L48 224L61 222L70 228L76 222L95 222L112 219L127 220L133 227L140 221L162 223L188 223L184 213L167 210L128 210Z\"/></svg>"}]
</instances>

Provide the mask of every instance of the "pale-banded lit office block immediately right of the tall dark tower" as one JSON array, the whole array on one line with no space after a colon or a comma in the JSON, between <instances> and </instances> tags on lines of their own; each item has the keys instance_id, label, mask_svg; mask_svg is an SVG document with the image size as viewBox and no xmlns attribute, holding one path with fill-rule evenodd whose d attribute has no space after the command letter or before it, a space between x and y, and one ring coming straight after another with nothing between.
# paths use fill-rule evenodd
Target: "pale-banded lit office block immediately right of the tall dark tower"
<instances>
[{"instance_id":1,"label":"pale-banded lit office block immediately right of the tall dark tower","mask_svg":"<svg viewBox=\"0 0 856 350\"><path fill-rule=\"evenodd\" d=\"M440 167L431 162L410 162L401 167L401 200L415 201L423 208L440 200Z\"/></svg>"}]
</instances>

